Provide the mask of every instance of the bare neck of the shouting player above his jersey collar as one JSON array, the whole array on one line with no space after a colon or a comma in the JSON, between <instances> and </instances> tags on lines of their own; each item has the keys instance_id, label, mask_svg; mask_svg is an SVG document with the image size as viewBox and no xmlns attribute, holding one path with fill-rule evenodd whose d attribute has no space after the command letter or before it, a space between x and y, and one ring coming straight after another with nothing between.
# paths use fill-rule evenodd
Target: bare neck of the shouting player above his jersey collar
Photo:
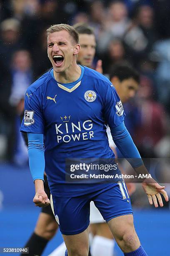
<instances>
[{"instance_id":1,"label":"bare neck of the shouting player above his jersey collar","mask_svg":"<svg viewBox=\"0 0 170 256\"><path fill-rule=\"evenodd\" d=\"M81 75L81 68L75 63L71 64L64 72L57 73L55 70L53 72L54 78L57 82L61 84L68 84L79 79Z\"/></svg>"}]
</instances>

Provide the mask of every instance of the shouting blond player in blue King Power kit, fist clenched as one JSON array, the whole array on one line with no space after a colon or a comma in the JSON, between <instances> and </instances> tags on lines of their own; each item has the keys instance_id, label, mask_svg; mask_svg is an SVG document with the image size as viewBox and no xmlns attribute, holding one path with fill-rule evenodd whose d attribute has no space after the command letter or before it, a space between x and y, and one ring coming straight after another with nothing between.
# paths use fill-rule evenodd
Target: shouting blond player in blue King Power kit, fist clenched
<instances>
[{"instance_id":1,"label":"shouting blond player in blue King Power kit, fist clenched","mask_svg":"<svg viewBox=\"0 0 170 256\"><path fill-rule=\"evenodd\" d=\"M106 77L76 64L80 44L73 27L57 24L47 29L47 48L52 69L28 88L29 98L25 96L21 125L21 131L28 134L29 164L35 183L33 202L39 207L50 204L43 187L45 169L55 219L69 256L88 255L90 201L95 202L107 221L124 255L145 256L133 226L130 199L125 200L127 189L121 179L114 183L65 181L66 158L114 159L108 146L105 122L122 155L138 159L132 162L135 171L147 172L125 128L120 98ZM144 180L143 188L155 207L158 207L157 199L163 206L160 193L168 201L165 187L153 179Z\"/></svg>"}]
</instances>

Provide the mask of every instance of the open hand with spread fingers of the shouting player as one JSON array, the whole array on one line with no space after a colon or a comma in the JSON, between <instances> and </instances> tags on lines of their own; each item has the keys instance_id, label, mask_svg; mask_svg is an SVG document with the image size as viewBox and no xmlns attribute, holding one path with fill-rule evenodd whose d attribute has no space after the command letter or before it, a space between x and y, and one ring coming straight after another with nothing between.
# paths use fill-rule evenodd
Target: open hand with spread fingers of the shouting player
<instances>
[{"instance_id":1,"label":"open hand with spread fingers of the shouting player","mask_svg":"<svg viewBox=\"0 0 170 256\"><path fill-rule=\"evenodd\" d=\"M165 201L168 202L168 195L164 190L165 186L160 186L154 179L148 180L147 182L144 181L142 187L148 196L150 205L154 203L155 207L158 207L159 202L160 207L163 207L163 200L160 194L162 194Z\"/></svg>"}]
</instances>

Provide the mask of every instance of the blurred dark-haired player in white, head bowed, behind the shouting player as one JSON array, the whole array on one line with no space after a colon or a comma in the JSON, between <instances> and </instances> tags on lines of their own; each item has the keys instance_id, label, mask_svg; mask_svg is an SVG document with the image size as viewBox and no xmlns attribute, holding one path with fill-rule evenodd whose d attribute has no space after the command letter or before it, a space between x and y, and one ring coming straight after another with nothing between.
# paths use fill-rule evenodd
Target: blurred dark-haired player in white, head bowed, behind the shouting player
<instances>
[{"instance_id":1,"label":"blurred dark-haired player in white, head bowed, behind the shouting player","mask_svg":"<svg viewBox=\"0 0 170 256\"><path fill-rule=\"evenodd\" d=\"M122 103L127 102L135 96L139 87L139 74L132 67L127 64L117 64L110 70L109 77L116 88ZM109 139L109 146L116 154L116 146L113 142L109 128L107 128L107 136ZM132 195L135 191L135 184L128 183L126 185L129 195ZM92 256L112 256L115 243L112 233L93 202L90 203L90 230L94 235L90 246Z\"/></svg>"}]
</instances>

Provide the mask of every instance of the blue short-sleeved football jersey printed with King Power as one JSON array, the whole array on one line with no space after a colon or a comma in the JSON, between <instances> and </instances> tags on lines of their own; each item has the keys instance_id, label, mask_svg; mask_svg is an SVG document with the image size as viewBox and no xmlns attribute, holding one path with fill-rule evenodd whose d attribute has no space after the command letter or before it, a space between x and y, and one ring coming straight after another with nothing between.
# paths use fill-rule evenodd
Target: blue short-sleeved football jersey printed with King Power
<instances>
[{"instance_id":1,"label":"blue short-sleeved football jersey printed with King Power","mask_svg":"<svg viewBox=\"0 0 170 256\"><path fill-rule=\"evenodd\" d=\"M124 110L111 82L81 67L74 83L60 84L53 69L37 79L25 95L22 132L45 136L45 172L52 195L78 196L108 184L66 184L65 159L115 158L109 147L106 123L120 125Z\"/></svg>"}]
</instances>

